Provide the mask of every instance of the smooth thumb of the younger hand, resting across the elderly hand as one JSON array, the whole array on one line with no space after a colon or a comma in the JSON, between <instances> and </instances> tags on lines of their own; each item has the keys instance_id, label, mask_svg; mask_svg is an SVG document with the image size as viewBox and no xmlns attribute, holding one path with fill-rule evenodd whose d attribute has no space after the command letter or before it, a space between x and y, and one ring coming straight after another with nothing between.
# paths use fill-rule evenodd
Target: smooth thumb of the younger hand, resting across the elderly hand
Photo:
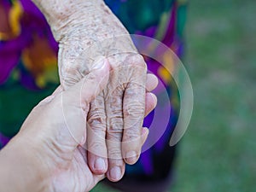
<instances>
[{"instance_id":1,"label":"smooth thumb of the younger hand, resting across the elderly hand","mask_svg":"<svg viewBox=\"0 0 256 192\"><path fill-rule=\"evenodd\" d=\"M109 64L107 59L96 62L95 67L84 79L61 95L62 112L65 125L76 144L84 143L86 138L86 119L90 102L108 84Z\"/></svg>"}]
</instances>

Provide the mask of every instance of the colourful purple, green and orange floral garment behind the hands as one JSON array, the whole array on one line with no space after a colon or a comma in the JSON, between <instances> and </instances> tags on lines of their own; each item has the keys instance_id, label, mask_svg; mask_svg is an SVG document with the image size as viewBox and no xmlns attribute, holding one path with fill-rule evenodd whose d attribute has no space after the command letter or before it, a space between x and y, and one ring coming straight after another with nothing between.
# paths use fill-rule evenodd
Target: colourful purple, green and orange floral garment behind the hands
<instances>
[{"instance_id":1,"label":"colourful purple, green and orange floral garment behind the hands","mask_svg":"<svg viewBox=\"0 0 256 192\"><path fill-rule=\"evenodd\" d=\"M131 34L158 39L178 56L183 54L185 0L105 2ZM44 16L30 0L0 0L0 148L19 130L32 105L59 84L57 51L57 44ZM127 172L152 175L157 171L152 156L166 151L177 121L178 94L166 68L157 61L145 59L148 69L161 79L168 90L172 115L164 136L153 148L143 153L137 166L128 167ZM172 61L166 61L165 65L175 67ZM159 90L157 94L160 95L161 91L164 90ZM25 101L24 98L31 98L28 95L37 97L37 100ZM149 126L153 116L154 113L149 114L144 125Z\"/></svg>"}]
</instances>

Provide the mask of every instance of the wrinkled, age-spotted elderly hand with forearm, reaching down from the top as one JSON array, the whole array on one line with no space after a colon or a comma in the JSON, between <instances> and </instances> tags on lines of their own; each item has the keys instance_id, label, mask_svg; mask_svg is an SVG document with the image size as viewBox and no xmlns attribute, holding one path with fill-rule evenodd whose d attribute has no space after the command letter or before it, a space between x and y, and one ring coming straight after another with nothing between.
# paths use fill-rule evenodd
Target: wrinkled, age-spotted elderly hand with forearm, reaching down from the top
<instances>
[{"instance_id":1,"label":"wrinkled, age-spotted elderly hand with forearm, reaching down from the top","mask_svg":"<svg viewBox=\"0 0 256 192\"><path fill-rule=\"evenodd\" d=\"M108 179L118 181L125 172L125 162L134 164L141 152L138 138L143 131L145 98L156 100L145 90L147 67L143 57L102 0L33 2L46 16L59 42L64 90L90 73L93 61L108 57L109 82L90 103L88 157L92 172L108 171Z\"/></svg>"}]
</instances>

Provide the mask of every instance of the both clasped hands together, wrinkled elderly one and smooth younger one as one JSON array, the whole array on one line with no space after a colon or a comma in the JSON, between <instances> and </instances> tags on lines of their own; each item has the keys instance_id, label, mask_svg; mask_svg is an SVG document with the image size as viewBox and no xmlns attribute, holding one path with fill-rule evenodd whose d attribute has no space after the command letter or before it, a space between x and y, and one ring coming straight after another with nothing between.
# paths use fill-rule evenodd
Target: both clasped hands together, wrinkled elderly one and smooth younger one
<instances>
[{"instance_id":1,"label":"both clasped hands together, wrinkled elderly one and smooth younger one","mask_svg":"<svg viewBox=\"0 0 256 192\"><path fill-rule=\"evenodd\" d=\"M0 189L84 192L119 181L148 136L157 78L102 0L33 2L59 43L61 85L1 151Z\"/></svg>"}]
</instances>

